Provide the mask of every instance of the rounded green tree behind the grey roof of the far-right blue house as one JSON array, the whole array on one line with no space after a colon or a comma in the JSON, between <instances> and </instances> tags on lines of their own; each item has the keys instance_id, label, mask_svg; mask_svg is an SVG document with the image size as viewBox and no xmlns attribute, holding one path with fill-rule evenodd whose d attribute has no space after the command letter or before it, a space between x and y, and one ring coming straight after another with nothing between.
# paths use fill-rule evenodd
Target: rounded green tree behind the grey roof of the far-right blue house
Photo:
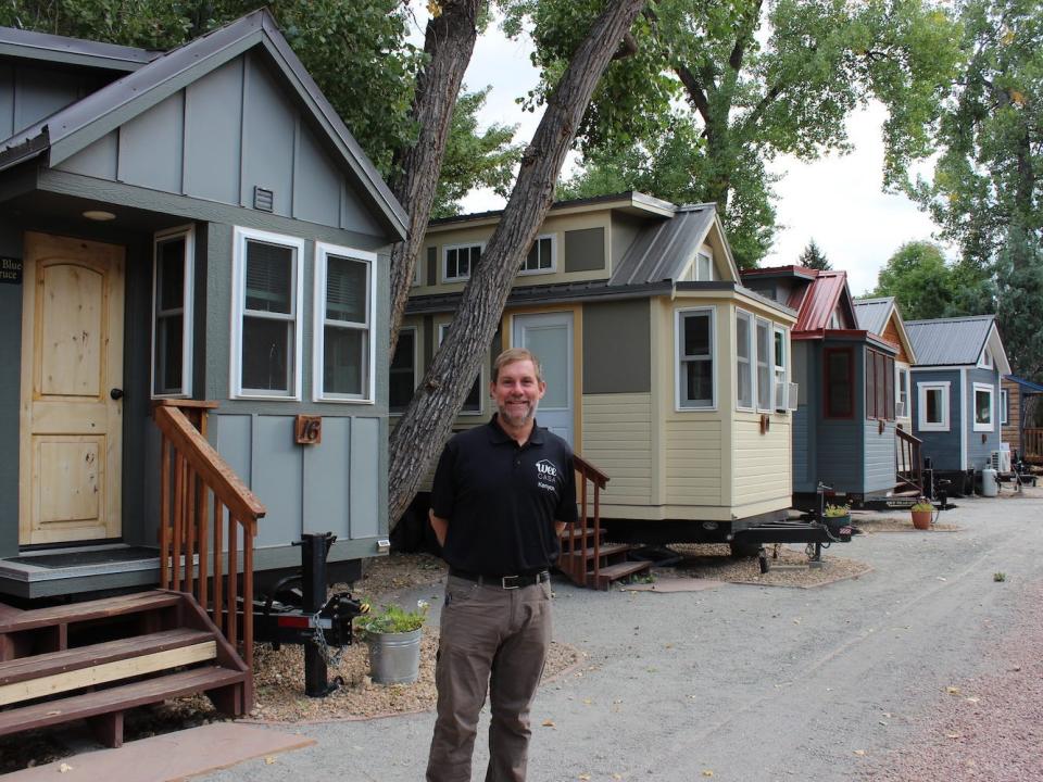
<instances>
[{"instance_id":1,"label":"rounded green tree behind the grey roof of the far-right blue house","mask_svg":"<svg viewBox=\"0 0 1043 782\"><path fill-rule=\"evenodd\" d=\"M959 263L950 266L931 242L906 242L877 278L876 297L894 297L906 320L982 315L995 308L988 269Z\"/></svg>"}]
</instances>

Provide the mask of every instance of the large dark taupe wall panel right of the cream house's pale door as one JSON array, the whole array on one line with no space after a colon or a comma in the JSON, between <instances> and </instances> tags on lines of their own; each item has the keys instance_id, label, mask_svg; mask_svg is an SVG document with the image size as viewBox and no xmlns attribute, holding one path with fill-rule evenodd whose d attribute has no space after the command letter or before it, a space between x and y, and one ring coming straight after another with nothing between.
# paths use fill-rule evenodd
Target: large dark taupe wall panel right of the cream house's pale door
<instances>
[{"instance_id":1,"label":"large dark taupe wall panel right of the cream house's pale door","mask_svg":"<svg viewBox=\"0 0 1043 782\"><path fill-rule=\"evenodd\" d=\"M648 299L583 305L583 393L652 390Z\"/></svg>"}]
</instances>

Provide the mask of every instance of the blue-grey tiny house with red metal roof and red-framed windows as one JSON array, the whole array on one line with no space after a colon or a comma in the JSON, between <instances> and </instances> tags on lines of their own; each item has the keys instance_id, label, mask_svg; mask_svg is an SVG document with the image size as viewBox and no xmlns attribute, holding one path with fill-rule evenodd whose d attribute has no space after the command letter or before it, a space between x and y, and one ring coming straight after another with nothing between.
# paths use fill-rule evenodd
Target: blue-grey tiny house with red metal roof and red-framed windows
<instances>
[{"instance_id":1,"label":"blue-grey tiny house with red metal roof and red-framed windows","mask_svg":"<svg viewBox=\"0 0 1043 782\"><path fill-rule=\"evenodd\" d=\"M817 505L819 484L860 503L896 487L895 360L900 346L859 326L844 272L781 266L743 272L746 286L797 310L793 493Z\"/></svg>"}]
</instances>

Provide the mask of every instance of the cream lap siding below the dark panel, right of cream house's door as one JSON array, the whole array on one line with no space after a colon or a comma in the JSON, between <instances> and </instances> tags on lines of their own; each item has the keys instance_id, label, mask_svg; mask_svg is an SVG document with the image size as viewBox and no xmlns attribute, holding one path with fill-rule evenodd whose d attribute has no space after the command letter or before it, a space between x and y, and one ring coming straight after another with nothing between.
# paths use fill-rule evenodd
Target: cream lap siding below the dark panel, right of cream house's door
<instances>
[{"instance_id":1,"label":"cream lap siding below the dark panel, right of cream house's door","mask_svg":"<svg viewBox=\"0 0 1043 782\"><path fill-rule=\"evenodd\" d=\"M648 505L652 492L652 395L583 394L580 453L608 476L602 502Z\"/></svg>"}]
</instances>

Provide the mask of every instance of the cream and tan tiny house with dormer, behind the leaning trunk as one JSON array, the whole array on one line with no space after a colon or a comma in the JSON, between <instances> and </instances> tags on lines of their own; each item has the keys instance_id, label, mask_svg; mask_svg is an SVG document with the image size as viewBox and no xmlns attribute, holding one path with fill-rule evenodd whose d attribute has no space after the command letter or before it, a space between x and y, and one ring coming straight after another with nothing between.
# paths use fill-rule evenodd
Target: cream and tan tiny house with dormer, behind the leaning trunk
<instances>
[{"instance_id":1,"label":"cream and tan tiny house with dormer, behind the leaning trunk","mask_svg":"<svg viewBox=\"0 0 1043 782\"><path fill-rule=\"evenodd\" d=\"M433 220L391 365L404 407L500 213ZM744 287L714 204L637 192L555 203L491 346L523 345L548 382L538 420L611 482L613 538L688 540L786 516L795 313ZM494 412L488 367L456 428Z\"/></svg>"}]
</instances>

